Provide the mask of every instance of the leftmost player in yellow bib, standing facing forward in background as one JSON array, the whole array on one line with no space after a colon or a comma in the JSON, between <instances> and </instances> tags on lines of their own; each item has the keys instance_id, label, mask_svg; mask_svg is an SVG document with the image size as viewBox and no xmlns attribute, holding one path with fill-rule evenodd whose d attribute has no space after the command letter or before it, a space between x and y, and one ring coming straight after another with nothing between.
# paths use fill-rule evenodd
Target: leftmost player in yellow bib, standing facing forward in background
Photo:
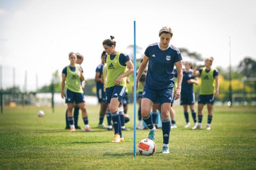
<instances>
[{"instance_id":1,"label":"leftmost player in yellow bib, standing facing forward in background","mask_svg":"<svg viewBox=\"0 0 256 170\"><path fill-rule=\"evenodd\" d=\"M74 117L72 115L75 102L82 111L85 131L92 132L93 130L90 128L88 123L88 116L85 108L85 101L81 84L81 81L84 80L82 68L79 64L76 64L77 55L75 53L69 53L69 60L70 64L62 70L61 97L66 98L66 103L68 105L68 122L70 131L74 132L76 130L74 125ZM64 88L66 89L66 94L64 94Z\"/></svg>"}]
</instances>

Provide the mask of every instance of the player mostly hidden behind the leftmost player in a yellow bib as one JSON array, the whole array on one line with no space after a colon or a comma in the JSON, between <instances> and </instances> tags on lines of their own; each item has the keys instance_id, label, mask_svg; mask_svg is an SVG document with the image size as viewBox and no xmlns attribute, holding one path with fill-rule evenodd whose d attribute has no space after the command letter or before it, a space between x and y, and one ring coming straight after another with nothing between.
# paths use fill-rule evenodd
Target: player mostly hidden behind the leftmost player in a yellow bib
<instances>
[{"instance_id":1,"label":"player mostly hidden behind the leftmost player in a yellow bib","mask_svg":"<svg viewBox=\"0 0 256 170\"><path fill-rule=\"evenodd\" d=\"M77 56L77 61L76 64L81 65L84 61L84 56L82 54L76 53ZM81 67L82 69L82 67ZM83 69L82 69L83 72ZM81 81L82 88L85 86L85 81ZM74 107L74 124L76 129L81 129L80 126L78 126L78 115L79 115L79 107L78 105L75 105ZM66 128L65 129L70 129L69 123L68 123L68 109L66 110Z\"/></svg>"}]
</instances>

